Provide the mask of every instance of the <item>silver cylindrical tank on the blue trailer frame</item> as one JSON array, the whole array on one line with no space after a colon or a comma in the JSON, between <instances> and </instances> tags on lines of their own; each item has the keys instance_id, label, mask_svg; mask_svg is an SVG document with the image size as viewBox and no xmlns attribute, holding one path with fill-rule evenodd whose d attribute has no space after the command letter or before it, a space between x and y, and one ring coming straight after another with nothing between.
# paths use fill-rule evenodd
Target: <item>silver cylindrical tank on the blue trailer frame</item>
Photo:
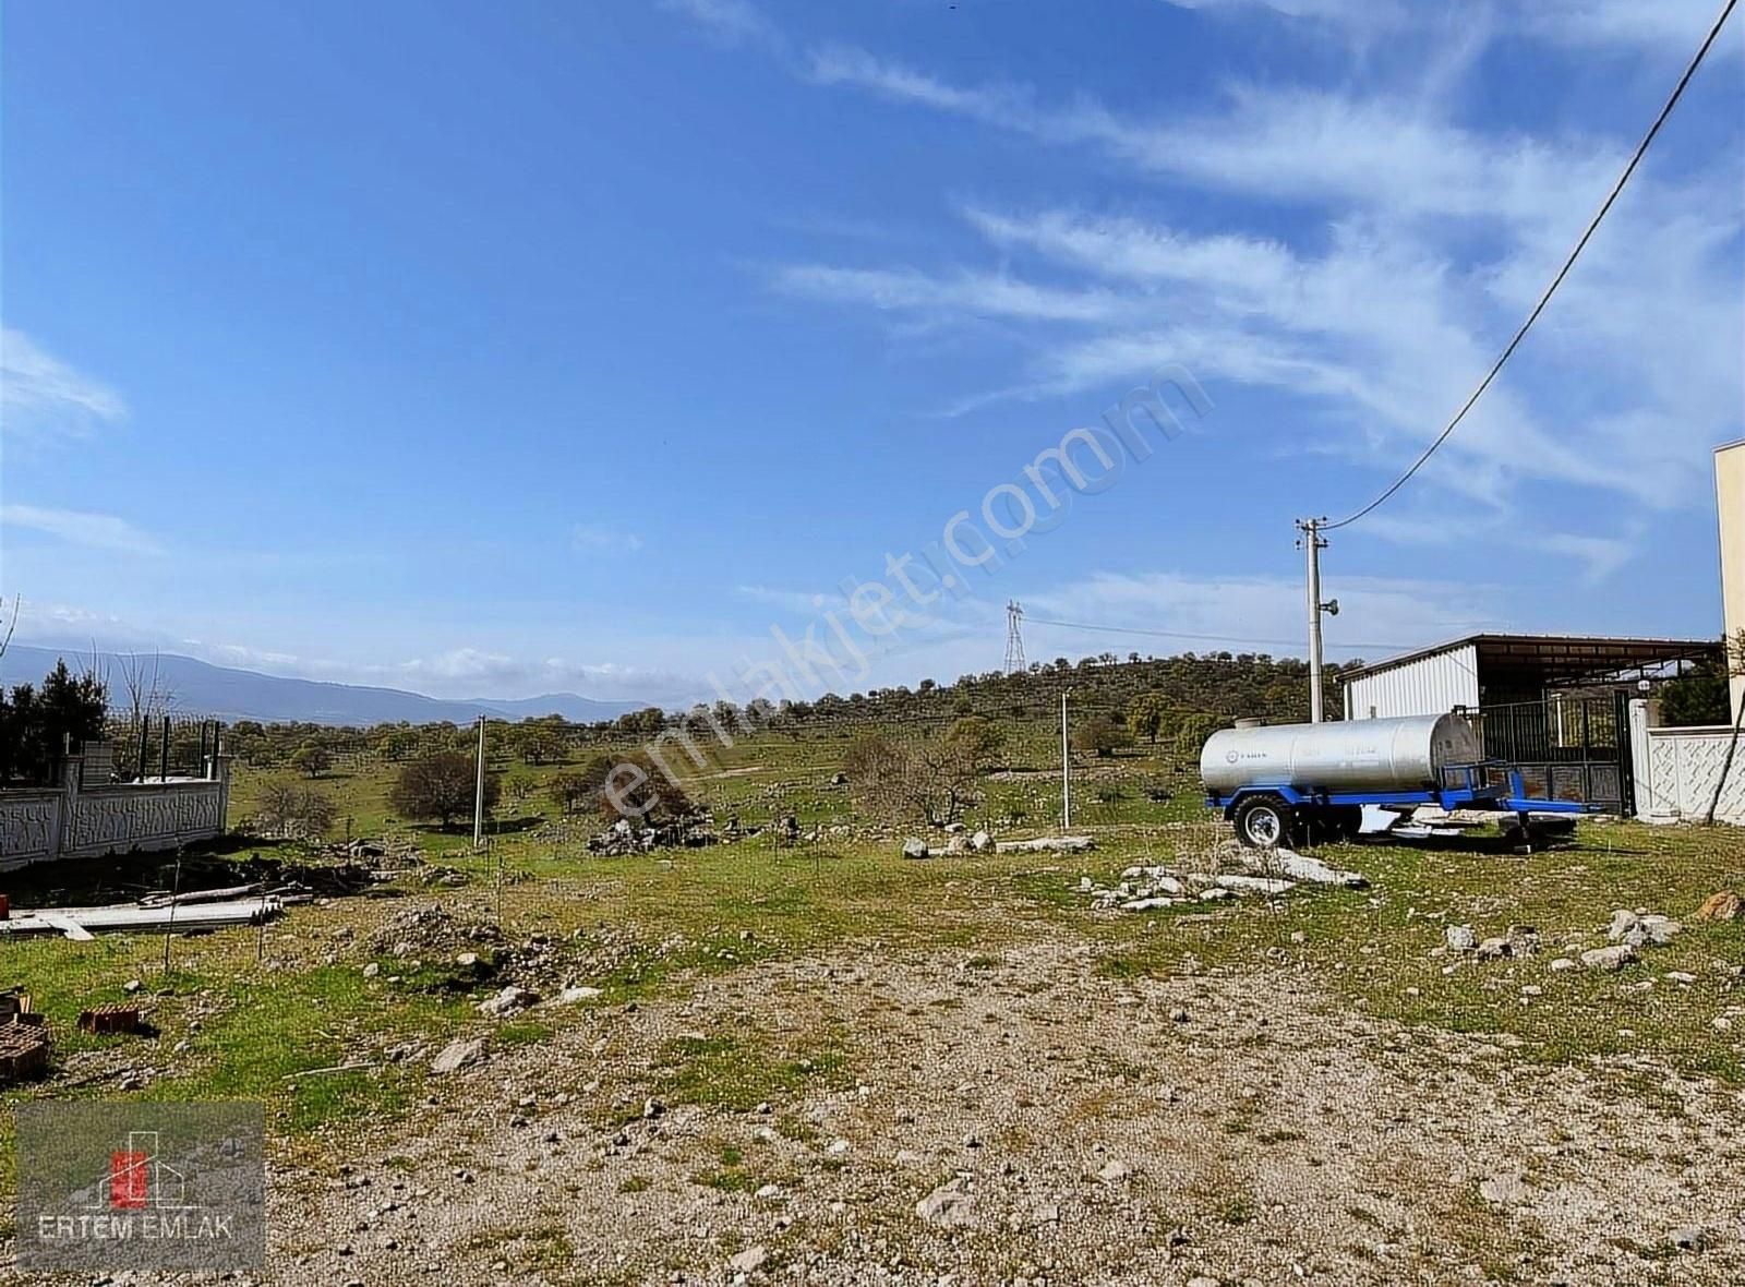
<instances>
[{"instance_id":1,"label":"silver cylindrical tank on the blue trailer frame","mask_svg":"<svg viewBox=\"0 0 1745 1287\"><path fill-rule=\"evenodd\" d=\"M1242 786L1413 792L1436 786L1445 766L1483 757L1478 734L1459 715L1276 724L1211 734L1201 750L1201 778L1213 795Z\"/></svg>"}]
</instances>

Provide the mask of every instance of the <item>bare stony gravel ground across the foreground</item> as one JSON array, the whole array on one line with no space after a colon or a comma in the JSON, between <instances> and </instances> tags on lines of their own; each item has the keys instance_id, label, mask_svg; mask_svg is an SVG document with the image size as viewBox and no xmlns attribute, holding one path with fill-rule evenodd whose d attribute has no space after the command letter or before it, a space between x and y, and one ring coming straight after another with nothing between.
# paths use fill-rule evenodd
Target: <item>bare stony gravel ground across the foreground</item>
<instances>
[{"instance_id":1,"label":"bare stony gravel ground across the foreground","mask_svg":"<svg viewBox=\"0 0 1745 1287\"><path fill-rule=\"evenodd\" d=\"M274 1175L270 1282L1745 1280L1738 1092L1405 1032L1288 963L866 947L530 1017L557 1034ZM674 1041L747 1034L846 1059L646 1116Z\"/></svg>"}]
</instances>

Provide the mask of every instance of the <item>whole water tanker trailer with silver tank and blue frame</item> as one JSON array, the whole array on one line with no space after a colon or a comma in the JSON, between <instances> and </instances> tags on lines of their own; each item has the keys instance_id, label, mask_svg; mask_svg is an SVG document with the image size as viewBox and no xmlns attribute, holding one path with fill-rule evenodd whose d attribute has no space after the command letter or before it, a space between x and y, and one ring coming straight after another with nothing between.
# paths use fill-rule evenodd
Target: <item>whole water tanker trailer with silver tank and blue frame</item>
<instances>
[{"instance_id":1,"label":"whole water tanker trailer with silver tank and blue frame","mask_svg":"<svg viewBox=\"0 0 1745 1287\"><path fill-rule=\"evenodd\" d=\"M1495 813L1522 835L1530 818L1567 823L1586 813L1570 800L1527 799L1520 769L1487 760L1459 715L1222 729L1201 750L1201 778L1206 802L1256 849L1349 839L1366 806Z\"/></svg>"}]
</instances>

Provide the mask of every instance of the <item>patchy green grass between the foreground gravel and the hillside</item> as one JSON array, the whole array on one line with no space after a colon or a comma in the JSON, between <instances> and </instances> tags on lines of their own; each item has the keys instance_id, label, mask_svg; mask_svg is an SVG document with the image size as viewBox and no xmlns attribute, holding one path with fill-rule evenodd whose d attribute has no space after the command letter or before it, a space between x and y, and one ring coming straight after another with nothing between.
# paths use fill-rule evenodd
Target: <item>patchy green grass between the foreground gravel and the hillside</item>
<instances>
[{"instance_id":1,"label":"patchy green grass between the foreground gravel and the hillside","mask_svg":"<svg viewBox=\"0 0 1745 1287\"><path fill-rule=\"evenodd\" d=\"M1096 837L1092 853L904 861L892 834L867 828L846 792L829 785L843 745L836 738L740 745L691 785L717 816L736 813L759 825L794 811L808 828L839 825L841 834L797 846L778 846L764 834L632 858L588 855L592 821L551 839L534 821L550 813L537 797L522 807L506 804L494 848L475 855L469 835L408 828L391 818L389 766L335 774L319 785L333 792L354 835L410 835L433 863L464 872L466 882L431 886L414 868L379 896L295 907L263 931L178 938L169 943L168 971L161 936L9 943L0 984L31 992L49 1015L58 1071L49 1081L7 1090L3 1102L258 1099L267 1104L276 1153L319 1170L356 1132L415 1121L429 1095L428 1053L454 1034L480 1034L490 1048L513 1052L562 1039L565 1025L592 1015L682 999L707 980L773 963L852 952L862 970L876 973L888 954L925 952L951 954L974 971L998 968L1007 954L1035 945L1089 952L1094 971L1112 985L1283 970L1352 1015L1405 1032L1480 1034L1513 1066L1605 1064L1626 1074L1640 1060L1639 1093L1649 1097L1668 1072L1745 1086L1738 978L1745 924L1687 921L1710 893L1745 888L1745 835L1736 830L1595 821L1581 827L1572 846L1530 856L1335 846L1321 856L1361 870L1370 889L1304 886L1276 903L1096 912L1077 893L1082 875L1113 881L1139 861L1194 868L1216 849L1222 823L1204 814L1192 790L1183 786L1167 800L1146 797L1148 783L1173 773L1169 764L1133 755L1087 766L1075 783L1084 800L1075 830ZM257 783L250 774L237 781L234 816L248 816ZM1009 835L1047 834L1057 792L1045 766L1002 774L972 823L989 821ZM293 851L248 841L225 848ZM28 889L14 902L30 902ZM544 936L564 980L602 994L510 1024L482 1020L475 1004L494 982L457 973L447 959L396 957L379 942L389 917L410 905L440 905L485 924L497 923L501 905L508 945ZM1686 930L1621 973L1550 970L1565 949L1602 945L1618 907L1665 912L1686 919ZM1539 956L1476 963L1440 950L1448 924L1471 924L1483 938L1522 923L1539 930ZM366 964L377 966L373 977ZM129 980L148 996L159 1036L77 1034L77 1011L122 998ZM407 1043L424 1053L396 1059L394 1048ZM747 1029L670 1038L625 1083L618 1104L600 1104L597 1113L633 1118L623 1104L660 1095L731 1111L773 1100L780 1114L784 1100L811 1088L853 1086L862 1055L855 1025L843 1022L780 1036ZM140 1078L138 1088L120 1090L127 1074ZM1633 1085L1625 1074L1618 1093ZM806 1128L797 1118L789 1127ZM12 1149L3 1142L0 1193L9 1193ZM714 1186L747 1182L731 1153L698 1174L712 1175L705 1184Z\"/></svg>"}]
</instances>

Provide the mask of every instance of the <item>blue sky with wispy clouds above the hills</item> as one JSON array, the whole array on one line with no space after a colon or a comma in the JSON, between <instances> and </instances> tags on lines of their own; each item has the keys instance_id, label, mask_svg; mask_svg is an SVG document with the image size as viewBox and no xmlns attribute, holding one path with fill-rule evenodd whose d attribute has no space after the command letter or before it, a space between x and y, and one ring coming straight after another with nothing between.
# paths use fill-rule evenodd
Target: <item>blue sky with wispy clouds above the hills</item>
<instances>
[{"instance_id":1,"label":"blue sky with wispy clouds above the hills","mask_svg":"<svg viewBox=\"0 0 1745 1287\"><path fill-rule=\"evenodd\" d=\"M1173 364L1185 432L834 687L996 668L1007 598L1290 652L1291 520L1441 427L1715 9L7 5L0 589L19 638L679 701ZM1742 49L1337 534L1335 656L1719 633Z\"/></svg>"}]
</instances>

